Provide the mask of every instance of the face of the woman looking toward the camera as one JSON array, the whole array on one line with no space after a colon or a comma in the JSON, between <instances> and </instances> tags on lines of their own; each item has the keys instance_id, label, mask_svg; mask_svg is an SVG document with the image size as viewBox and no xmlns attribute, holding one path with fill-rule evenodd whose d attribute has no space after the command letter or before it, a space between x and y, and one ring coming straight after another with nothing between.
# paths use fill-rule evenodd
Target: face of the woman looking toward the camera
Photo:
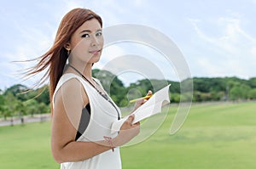
<instances>
[{"instance_id":1,"label":"face of the woman looking toward the camera","mask_svg":"<svg viewBox=\"0 0 256 169\"><path fill-rule=\"evenodd\" d=\"M73 33L68 43L71 54L70 62L92 64L99 61L103 48L102 27L98 20L91 19L84 22Z\"/></svg>"}]
</instances>

